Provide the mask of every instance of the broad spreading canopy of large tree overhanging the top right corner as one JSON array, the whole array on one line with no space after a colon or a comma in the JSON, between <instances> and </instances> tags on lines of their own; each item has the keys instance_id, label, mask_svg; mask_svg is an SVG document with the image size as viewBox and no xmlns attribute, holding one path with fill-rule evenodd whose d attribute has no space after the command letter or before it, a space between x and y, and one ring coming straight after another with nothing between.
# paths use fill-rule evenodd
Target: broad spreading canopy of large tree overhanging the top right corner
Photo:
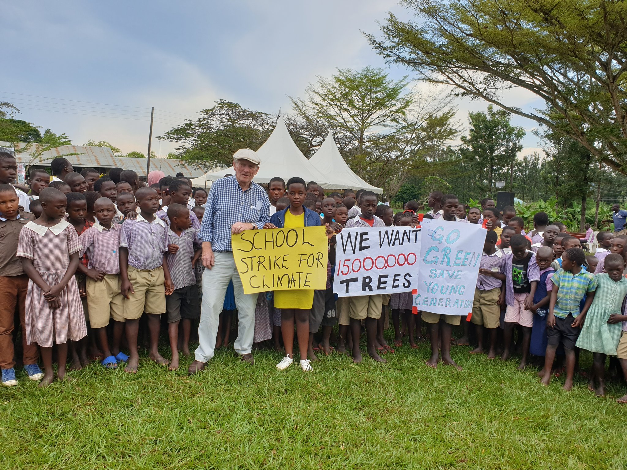
<instances>
[{"instance_id":1,"label":"broad spreading canopy of large tree overhanging the top right corner","mask_svg":"<svg viewBox=\"0 0 627 470\"><path fill-rule=\"evenodd\" d=\"M403 0L418 22L389 14L387 61L423 80L457 88L576 140L627 173L627 9L616 0ZM547 110L507 105L503 91L523 88ZM557 124L559 116L566 125Z\"/></svg>"}]
</instances>

